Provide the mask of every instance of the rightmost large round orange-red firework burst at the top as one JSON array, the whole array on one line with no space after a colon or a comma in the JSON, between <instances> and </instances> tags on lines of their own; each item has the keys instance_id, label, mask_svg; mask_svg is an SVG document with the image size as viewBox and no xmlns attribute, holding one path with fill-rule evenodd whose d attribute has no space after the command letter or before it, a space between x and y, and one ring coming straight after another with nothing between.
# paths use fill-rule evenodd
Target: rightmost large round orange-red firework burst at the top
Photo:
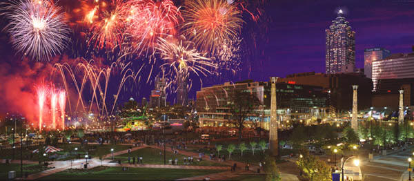
<instances>
[{"instance_id":1,"label":"rightmost large round orange-red firework burst at the top","mask_svg":"<svg viewBox=\"0 0 414 181\"><path fill-rule=\"evenodd\" d=\"M224 0L187 1L183 11L184 35L203 50L215 50L226 39L233 39L242 28L242 14Z\"/></svg>"}]
</instances>

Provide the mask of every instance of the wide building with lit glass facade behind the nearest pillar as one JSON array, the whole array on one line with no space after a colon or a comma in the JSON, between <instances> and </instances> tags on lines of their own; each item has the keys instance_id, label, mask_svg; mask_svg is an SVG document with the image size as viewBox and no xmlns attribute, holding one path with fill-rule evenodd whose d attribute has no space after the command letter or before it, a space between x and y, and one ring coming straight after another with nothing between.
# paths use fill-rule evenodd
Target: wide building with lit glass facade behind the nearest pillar
<instances>
[{"instance_id":1,"label":"wide building with lit glass facade behind the nearest pillar","mask_svg":"<svg viewBox=\"0 0 414 181\"><path fill-rule=\"evenodd\" d=\"M247 91L255 95L261 104L248 116L247 127L253 125L268 129L270 122L270 82L246 80L230 84L201 88L197 91L196 110L200 126L229 126L232 119L228 104L235 90ZM319 86L277 83L277 119L282 123L288 120L323 118L328 111L328 95Z\"/></svg>"}]
</instances>

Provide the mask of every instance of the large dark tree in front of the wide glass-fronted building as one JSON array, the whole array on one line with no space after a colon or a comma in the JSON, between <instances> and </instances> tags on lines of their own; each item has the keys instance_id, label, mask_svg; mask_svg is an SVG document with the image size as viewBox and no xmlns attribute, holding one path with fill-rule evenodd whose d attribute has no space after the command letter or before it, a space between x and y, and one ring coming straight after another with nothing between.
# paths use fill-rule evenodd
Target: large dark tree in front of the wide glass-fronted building
<instances>
[{"instance_id":1,"label":"large dark tree in front of the wide glass-fronted building","mask_svg":"<svg viewBox=\"0 0 414 181\"><path fill-rule=\"evenodd\" d=\"M228 123L239 130L239 141L242 140L244 122L246 122L249 114L255 113L259 105L259 99L250 92L234 90L233 94L228 97L229 112L232 115Z\"/></svg>"}]
</instances>

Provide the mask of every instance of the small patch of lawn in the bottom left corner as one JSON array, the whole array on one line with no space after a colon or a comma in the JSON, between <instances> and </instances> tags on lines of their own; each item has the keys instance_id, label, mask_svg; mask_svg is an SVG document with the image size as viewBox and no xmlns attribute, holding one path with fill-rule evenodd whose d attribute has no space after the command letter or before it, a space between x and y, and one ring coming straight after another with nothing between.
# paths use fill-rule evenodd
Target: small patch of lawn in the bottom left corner
<instances>
[{"instance_id":1,"label":"small patch of lawn in the bottom left corner","mask_svg":"<svg viewBox=\"0 0 414 181\"><path fill-rule=\"evenodd\" d=\"M47 168L45 166L40 166L39 164L23 164L23 175L26 172L32 174L45 170L47 170ZM0 180L6 180L9 171L16 171L16 177L20 177L20 164L0 164Z\"/></svg>"}]
</instances>

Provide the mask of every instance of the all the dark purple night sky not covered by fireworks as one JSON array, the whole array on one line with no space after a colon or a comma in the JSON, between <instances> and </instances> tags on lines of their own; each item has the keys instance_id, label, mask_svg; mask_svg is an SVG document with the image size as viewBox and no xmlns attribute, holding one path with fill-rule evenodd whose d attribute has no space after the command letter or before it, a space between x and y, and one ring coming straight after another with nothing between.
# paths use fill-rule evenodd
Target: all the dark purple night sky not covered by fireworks
<instances>
[{"instance_id":1,"label":"all the dark purple night sky not covered by fireworks","mask_svg":"<svg viewBox=\"0 0 414 181\"><path fill-rule=\"evenodd\" d=\"M219 79L204 77L204 86L243 79L268 81L269 77L285 77L292 73L311 71L324 73L325 29L337 17L339 9L344 10L346 20L356 32L357 68L364 67L365 48L382 47L391 50L391 53L409 53L411 46L414 45L414 1L268 0L268 2L265 6L268 19L259 23L244 23L244 26L247 26L244 30L251 29L255 35L242 32L245 41L251 41L251 37L259 37L256 41L257 48L254 48L259 55L253 59L242 59L244 70L235 77L219 77ZM1 19L0 28L3 29L5 24L6 22ZM264 29L262 26L267 28L267 32L262 31ZM10 46L7 33L2 31L0 63L3 65L8 62L6 65L11 68L0 70L10 70L10 73L14 73L13 69L20 69L17 61L22 60L13 56L14 50ZM137 91L121 93L121 102L128 100L129 97L138 100L141 97L148 97L153 87L153 84L143 83ZM188 94L190 98L195 97L199 87L199 82L194 82ZM173 98L174 95L168 97L170 102L173 102Z\"/></svg>"}]
</instances>

